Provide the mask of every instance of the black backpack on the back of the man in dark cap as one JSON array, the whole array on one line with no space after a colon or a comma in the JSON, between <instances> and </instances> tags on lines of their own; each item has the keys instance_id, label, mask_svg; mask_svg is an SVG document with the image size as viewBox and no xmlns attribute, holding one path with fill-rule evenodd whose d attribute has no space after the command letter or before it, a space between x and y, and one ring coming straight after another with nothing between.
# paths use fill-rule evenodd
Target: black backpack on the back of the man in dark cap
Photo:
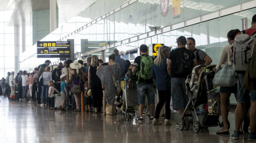
<instances>
[{"instance_id":1,"label":"black backpack on the back of the man in dark cap","mask_svg":"<svg viewBox=\"0 0 256 143\"><path fill-rule=\"evenodd\" d=\"M177 53L177 60L174 65L174 73L190 74L192 72L193 57L187 49L180 50Z\"/></svg>"}]
</instances>

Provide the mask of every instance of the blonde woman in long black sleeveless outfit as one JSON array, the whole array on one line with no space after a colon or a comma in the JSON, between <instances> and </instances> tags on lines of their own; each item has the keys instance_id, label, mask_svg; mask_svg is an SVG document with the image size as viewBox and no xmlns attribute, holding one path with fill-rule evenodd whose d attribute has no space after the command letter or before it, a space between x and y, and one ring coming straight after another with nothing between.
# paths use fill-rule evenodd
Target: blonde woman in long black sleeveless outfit
<instances>
[{"instance_id":1,"label":"blonde woman in long black sleeveless outfit","mask_svg":"<svg viewBox=\"0 0 256 143\"><path fill-rule=\"evenodd\" d=\"M98 113L98 108L102 107L103 97L101 80L98 75L96 75L98 60L98 56L93 55L91 59L91 65L88 69L88 86L92 90L93 107L95 108L95 113Z\"/></svg>"}]
</instances>

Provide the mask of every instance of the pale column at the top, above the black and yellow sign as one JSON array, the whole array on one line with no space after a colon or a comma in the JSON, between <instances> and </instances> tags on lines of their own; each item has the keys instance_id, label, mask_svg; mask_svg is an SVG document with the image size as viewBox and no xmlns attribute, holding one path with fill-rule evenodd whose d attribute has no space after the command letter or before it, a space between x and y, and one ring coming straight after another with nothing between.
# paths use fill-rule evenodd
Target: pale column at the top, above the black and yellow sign
<instances>
[{"instance_id":1,"label":"pale column at the top, above the black and yellow sign","mask_svg":"<svg viewBox=\"0 0 256 143\"><path fill-rule=\"evenodd\" d=\"M56 0L50 0L50 33L56 29Z\"/></svg>"}]
</instances>

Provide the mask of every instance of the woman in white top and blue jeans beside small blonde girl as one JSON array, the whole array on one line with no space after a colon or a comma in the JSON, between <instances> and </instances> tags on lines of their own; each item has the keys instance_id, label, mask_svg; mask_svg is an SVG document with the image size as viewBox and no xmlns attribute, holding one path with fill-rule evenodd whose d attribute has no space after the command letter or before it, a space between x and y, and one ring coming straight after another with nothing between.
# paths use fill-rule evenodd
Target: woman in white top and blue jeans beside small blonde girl
<instances>
[{"instance_id":1,"label":"woman in white top and blue jeans beside small blonde girl","mask_svg":"<svg viewBox=\"0 0 256 143\"><path fill-rule=\"evenodd\" d=\"M40 104L40 106L44 106L46 104L46 98L47 98L47 94L48 94L48 82L52 81L51 79L51 72L50 72L51 68L49 66L46 67L45 72L42 73L42 75L39 78L39 81L41 78L43 78L43 86L42 86L42 104Z\"/></svg>"}]
</instances>

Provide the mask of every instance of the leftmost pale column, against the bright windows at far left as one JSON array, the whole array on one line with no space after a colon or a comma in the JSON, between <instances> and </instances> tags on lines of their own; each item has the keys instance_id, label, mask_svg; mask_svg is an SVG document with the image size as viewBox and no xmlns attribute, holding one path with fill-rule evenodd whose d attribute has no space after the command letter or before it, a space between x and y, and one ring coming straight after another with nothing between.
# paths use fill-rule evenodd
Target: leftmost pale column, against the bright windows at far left
<instances>
[{"instance_id":1,"label":"leftmost pale column, against the bright windows at far left","mask_svg":"<svg viewBox=\"0 0 256 143\"><path fill-rule=\"evenodd\" d=\"M19 39L19 25L14 26L14 72L15 74L18 73L20 70L20 64L18 63L18 57L19 57L19 45L20 45L20 39Z\"/></svg>"}]
</instances>

